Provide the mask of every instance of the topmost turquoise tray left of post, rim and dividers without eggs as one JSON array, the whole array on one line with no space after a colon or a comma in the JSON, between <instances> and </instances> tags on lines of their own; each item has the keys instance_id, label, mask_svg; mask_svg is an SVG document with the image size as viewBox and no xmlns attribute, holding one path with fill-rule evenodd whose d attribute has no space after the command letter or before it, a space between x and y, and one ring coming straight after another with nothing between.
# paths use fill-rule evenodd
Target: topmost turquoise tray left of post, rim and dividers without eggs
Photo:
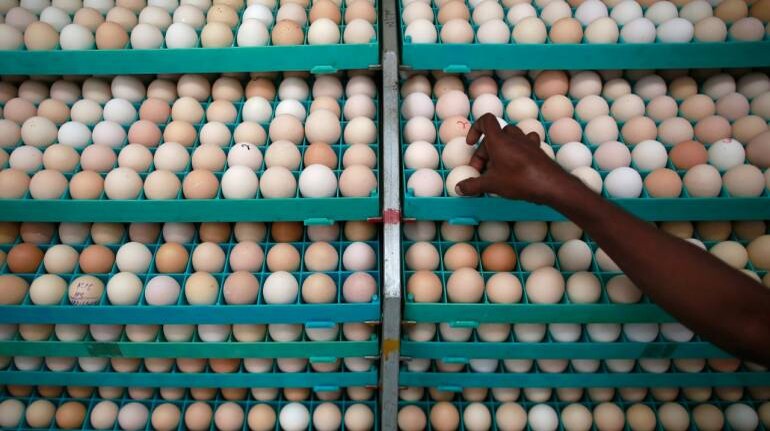
<instances>
[{"instance_id":1,"label":"topmost turquoise tray left of post, rim and dividers without eggs","mask_svg":"<svg viewBox=\"0 0 770 431\"><path fill-rule=\"evenodd\" d=\"M378 11L377 2L374 2ZM345 31L346 6L340 6L342 22L338 25L340 40L330 45L308 45L309 24L302 26L302 45L236 46L236 35L245 8L237 11L239 23L232 28L233 43L223 48L203 48L201 29L194 48L167 48L164 41L158 49L96 49L63 51L28 51L26 48L0 51L0 75L59 75L59 74L139 74L139 73L222 73L306 70L314 74L335 73L346 69L367 69L380 64L379 23L375 16L374 38L369 43L342 43ZM278 11L273 8L273 17ZM310 7L305 8L305 15ZM275 23L268 26L272 32Z\"/></svg>"}]
</instances>

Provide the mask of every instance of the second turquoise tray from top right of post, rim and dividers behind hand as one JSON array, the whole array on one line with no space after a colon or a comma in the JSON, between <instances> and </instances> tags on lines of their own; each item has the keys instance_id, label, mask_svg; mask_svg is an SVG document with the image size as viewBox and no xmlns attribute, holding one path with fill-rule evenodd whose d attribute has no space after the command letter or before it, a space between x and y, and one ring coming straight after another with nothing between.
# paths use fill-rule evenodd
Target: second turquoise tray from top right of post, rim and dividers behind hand
<instances>
[{"instance_id":1,"label":"second turquoise tray from top right of post, rim and dividers behind hand","mask_svg":"<svg viewBox=\"0 0 770 431\"><path fill-rule=\"evenodd\" d=\"M496 78L499 84L502 82L499 78ZM502 88L502 85L500 85ZM504 108L509 100L505 99L500 90L497 94L498 98L503 101ZM544 103L544 100L537 98L532 94L532 99L538 105L538 118L537 120L543 124L545 129L544 142L548 144L555 152L558 151L560 145L556 145L551 141L551 136L548 133L548 128L553 123L543 118L540 112L540 107ZM436 104L436 98L431 97L433 104ZM400 98L400 103L403 103L403 98ZM473 104L471 100L471 105ZM571 98L573 106L578 103L578 100ZM645 103L649 102L645 100ZM681 101L677 101L680 103ZM612 104L612 100L607 100L609 105ZM534 204L521 200L510 200L495 197L491 195L484 195L481 197L451 197L447 193L446 187L443 188L442 195L436 197L417 197L411 188L407 187L407 181L409 177L414 173L415 169L408 169L404 164L403 155L406 152L406 148L409 144L404 139L404 127L408 120L404 119L400 115L400 127L401 127L401 163L402 163L402 182L404 187L404 215L408 218L414 218L418 220L449 220L453 224L478 224L483 220L544 220L555 221L565 220L565 217L558 211L546 206ZM505 110L503 111L503 118L510 124L516 124L515 121L511 121ZM473 123L475 119L473 114L469 114L469 121ZM580 119L577 113L573 114L573 119L576 120L581 128L585 130L587 124L586 121ZM451 171L450 168L444 165L441 160L441 153L444 150L445 143L441 141L438 136L438 130L441 126L442 120L440 120L437 114L434 113L433 125L436 129L436 142L434 146L439 153L439 167L436 169L441 175L441 178L446 182L446 177ZM690 121L694 126L695 122ZM625 144L623 136L620 134L620 130L625 122L618 121L618 142ZM659 124L659 122L656 122ZM591 143L587 137L582 136L581 142L585 144L593 154L599 147L597 144ZM670 152L672 145L664 145L666 151ZM748 163L748 162L746 162ZM609 174L609 171L599 169L596 165L596 161L592 160L591 167L599 172L602 177L602 181ZM666 167L674 170L679 174L680 178L683 178L685 170L677 169L672 163L671 159L666 162ZM641 170L632 161L631 168L637 170L642 176L642 180L651 172L649 170ZM723 171L720 173L724 174ZM635 216L648 221L671 221L671 220L759 220L770 218L770 191L765 189L758 197L737 197L732 196L727 189L722 186L718 197L704 198L704 197L691 197L687 192L684 185L682 186L682 193L677 198L654 198L649 195L647 188L643 187L642 194L638 198L612 198L607 194L607 190L602 187L601 195L615 203L616 205L631 212Z\"/></svg>"}]
</instances>

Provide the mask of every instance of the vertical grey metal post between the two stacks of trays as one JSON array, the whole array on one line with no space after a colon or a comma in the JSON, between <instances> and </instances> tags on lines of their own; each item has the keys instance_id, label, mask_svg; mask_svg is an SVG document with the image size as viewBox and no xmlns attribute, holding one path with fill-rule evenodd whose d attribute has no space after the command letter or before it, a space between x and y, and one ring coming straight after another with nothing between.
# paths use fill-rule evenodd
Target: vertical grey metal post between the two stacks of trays
<instances>
[{"instance_id":1,"label":"vertical grey metal post between the two stacks of trays","mask_svg":"<svg viewBox=\"0 0 770 431\"><path fill-rule=\"evenodd\" d=\"M383 297L380 362L382 430L398 429L401 339L401 163L398 123L398 10L382 0Z\"/></svg>"}]
</instances>

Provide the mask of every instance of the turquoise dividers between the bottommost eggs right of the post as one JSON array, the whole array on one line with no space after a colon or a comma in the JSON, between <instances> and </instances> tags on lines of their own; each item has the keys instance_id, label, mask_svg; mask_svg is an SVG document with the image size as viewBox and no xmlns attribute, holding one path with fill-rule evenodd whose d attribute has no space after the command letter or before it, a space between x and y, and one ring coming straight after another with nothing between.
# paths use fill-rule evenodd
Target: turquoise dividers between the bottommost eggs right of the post
<instances>
[{"instance_id":1,"label":"turquoise dividers between the bottommost eggs right of the post","mask_svg":"<svg viewBox=\"0 0 770 431\"><path fill-rule=\"evenodd\" d=\"M624 401L621 397L617 396L617 394L615 395L613 400L610 401L610 402L613 403L613 404L617 404L618 407L623 409L624 412L629 407L631 407L632 405L637 404L635 402ZM687 428L687 430L688 431L698 431L698 428L695 425L695 421L694 421L693 416L692 416L692 410L695 407L697 407L697 406L699 406L701 404L704 404L704 403L690 401L690 400L687 400L687 399L685 399L684 397L681 397L681 396L677 400L675 400L674 402L679 404L679 405L681 405L682 407L684 407L687 410L687 413L690 416L690 418L689 418L690 419L690 426ZM463 414L463 411L465 410L465 408L469 404L471 404L471 402L465 401L462 397L458 396L457 399L452 400L451 403L460 412L461 420L460 420L460 423L459 423L459 427L457 428L458 431L466 431L466 430L468 430L468 428L465 427L465 424L462 421L462 414ZM502 404L504 404L504 403L500 402L500 401L494 400L494 398L492 398L491 395L488 395L487 398L484 401L481 401L481 403L484 404L484 406L487 407L489 409L489 412L492 414L492 427L490 428L490 431L497 431L497 430L499 430L500 428L498 428L498 425L497 425L497 422L496 422L496 419L495 419L495 414L497 412L497 409L500 408L500 406ZM544 403L537 403L537 402L529 401L529 400L527 400L527 401L519 400L519 401L516 401L515 403L519 404L526 411L528 411L530 408L532 408L532 407L534 407L534 406L536 406L538 404L547 404L550 407L552 407L554 410L556 410L556 413L559 416L559 418L561 418L562 410L564 408L566 408L568 405L573 404L573 403L566 402L566 401L558 401L555 396L552 397L550 400L544 402ZM583 395L583 398L581 398L579 401L577 401L577 403L578 404L582 404L583 406L588 408L589 411L593 411L594 407L596 407L597 405L601 404L601 403L598 403L596 401L592 401L585 394ZM728 406L730 406L732 404L737 404L737 403L746 404L749 407L753 408L754 410L757 410L759 408L759 406L762 405L763 401L755 400L755 399L752 399L750 397L745 397L745 398L743 398L743 399L741 399L739 401L736 401L736 402L722 401L722 400L719 400L719 399L711 399L711 400L706 401L705 403L713 404L713 405L717 406L720 410L722 410L724 412L724 409L726 409ZM425 413L426 417L428 417L428 414L430 413L430 409L433 407L434 404L436 404L436 401L433 401L433 400L430 400L430 399L421 399L419 401L399 401L398 402L398 405L399 405L400 408L405 407L405 406L411 406L411 405L419 407ZM663 404L665 404L665 403L661 402L661 401L655 400L654 398L652 398L648 394L647 397L645 397L644 400L639 402L639 404L644 404L647 407L650 407L655 412L656 419L658 419L657 424L656 424L656 426L654 428L655 431L665 431L665 428L663 428L663 426L660 424L660 419L658 418L658 409ZM524 429L527 430L527 431L533 430L533 428L530 427L529 425L527 425L526 428L524 428ZM724 424L724 427L722 429L726 430L726 431L733 431L734 430L734 428L731 428L730 425L728 424L727 419L725 419L725 424ZM433 428L431 427L430 420L429 420L427 422L427 424L426 424L425 431L432 431L432 430L433 430ZM558 431L565 431L566 430L566 428L564 427L564 424L561 422L561 419L559 420L559 426L558 426L557 430ZM592 425L590 430L591 431L598 431L598 429L596 428L596 425ZM623 430L624 431L632 431L632 429L628 426L628 423L626 423L626 425L623 428ZM766 430L767 430L767 428L764 427L764 425L762 425L762 421L760 421L759 427L757 428L757 431L766 431Z\"/></svg>"}]
</instances>

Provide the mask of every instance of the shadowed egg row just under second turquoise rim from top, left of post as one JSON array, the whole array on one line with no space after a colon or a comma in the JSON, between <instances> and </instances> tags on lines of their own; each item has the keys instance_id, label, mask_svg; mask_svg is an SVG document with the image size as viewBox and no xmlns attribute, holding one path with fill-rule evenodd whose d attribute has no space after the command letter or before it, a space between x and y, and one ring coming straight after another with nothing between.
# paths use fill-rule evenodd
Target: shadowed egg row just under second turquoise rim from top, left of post
<instances>
[{"instance_id":1,"label":"shadowed egg row just under second turquoise rim from top, left of post","mask_svg":"<svg viewBox=\"0 0 770 431\"><path fill-rule=\"evenodd\" d=\"M302 222L203 222L197 223L38 223L0 222L0 244L17 241L32 244L100 245L133 241L142 244L173 242L229 243L251 241L370 241L377 226L366 221L303 226Z\"/></svg>"}]
</instances>

